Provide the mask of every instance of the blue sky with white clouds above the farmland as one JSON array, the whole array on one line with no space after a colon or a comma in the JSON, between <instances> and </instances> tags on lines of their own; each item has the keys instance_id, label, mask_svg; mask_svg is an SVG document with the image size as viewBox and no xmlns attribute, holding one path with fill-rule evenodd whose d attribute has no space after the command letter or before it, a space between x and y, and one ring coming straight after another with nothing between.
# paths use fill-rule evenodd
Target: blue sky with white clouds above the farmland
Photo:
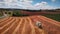
<instances>
[{"instance_id":1,"label":"blue sky with white clouds above the farmland","mask_svg":"<svg viewBox=\"0 0 60 34\"><path fill-rule=\"evenodd\" d=\"M60 8L60 0L0 0L0 8L57 9Z\"/></svg>"}]
</instances>

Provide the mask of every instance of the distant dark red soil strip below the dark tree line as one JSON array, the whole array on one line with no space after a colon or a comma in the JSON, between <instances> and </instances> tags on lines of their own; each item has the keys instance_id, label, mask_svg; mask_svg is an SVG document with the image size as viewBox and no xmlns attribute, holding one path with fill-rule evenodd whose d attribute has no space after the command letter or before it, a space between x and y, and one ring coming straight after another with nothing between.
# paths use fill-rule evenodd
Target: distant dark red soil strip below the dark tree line
<instances>
[{"instance_id":1,"label":"distant dark red soil strip below the dark tree line","mask_svg":"<svg viewBox=\"0 0 60 34\"><path fill-rule=\"evenodd\" d=\"M27 14L27 15L40 15L40 14L60 14L60 11L56 11L56 12L46 12L46 11L42 11L42 12L29 12L29 11L21 11L22 14Z\"/></svg>"}]
</instances>

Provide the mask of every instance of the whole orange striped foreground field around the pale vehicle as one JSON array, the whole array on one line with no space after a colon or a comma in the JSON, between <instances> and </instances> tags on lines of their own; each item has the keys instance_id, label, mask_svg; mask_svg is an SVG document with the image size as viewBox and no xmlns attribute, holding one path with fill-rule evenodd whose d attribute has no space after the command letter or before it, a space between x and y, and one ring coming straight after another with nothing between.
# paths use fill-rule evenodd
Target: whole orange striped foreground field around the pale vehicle
<instances>
[{"instance_id":1,"label":"whole orange striped foreground field around the pale vehicle","mask_svg":"<svg viewBox=\"0 0 60 34\"><path fill-rule=\"evenodd\" d=\"M43 29L35 25L36 21ZM60 34L60 22L44 16L7 17L0 20L0 34Z\"/></svg>"}]
</instances>

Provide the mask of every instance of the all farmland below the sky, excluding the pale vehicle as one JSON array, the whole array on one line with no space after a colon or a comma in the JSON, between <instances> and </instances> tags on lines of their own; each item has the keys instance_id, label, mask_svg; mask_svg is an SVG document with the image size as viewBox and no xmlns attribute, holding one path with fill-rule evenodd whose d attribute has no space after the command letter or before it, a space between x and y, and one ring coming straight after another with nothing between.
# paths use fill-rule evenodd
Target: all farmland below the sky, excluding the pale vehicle
<instances>
[{"instance_id":1,"label":"all farmland below the sky, excluding the pale vehicle","mask_svg":"<svg viewBox=\"0 0 60 34\"><path fill-rule=\"evenodd\" d=\"M60 12L52 10L1 9L1 34L60 34ZM53 12L55 11L55 12ZM54 14L53 14L54 13ZM42 25L37 26L40 22Z\"/></svg>"}]
</instances>

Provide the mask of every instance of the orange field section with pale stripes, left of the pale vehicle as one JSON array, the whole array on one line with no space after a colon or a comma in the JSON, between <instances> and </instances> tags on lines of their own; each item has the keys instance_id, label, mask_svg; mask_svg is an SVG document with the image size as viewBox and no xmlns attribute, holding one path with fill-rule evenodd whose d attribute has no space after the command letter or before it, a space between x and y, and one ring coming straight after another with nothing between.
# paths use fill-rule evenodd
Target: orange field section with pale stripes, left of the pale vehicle
<instances>
[{"instance_id":1,"label":"orange field section with pale stripes, left of the pale vehicle","mask_svg":"<svg viewBox=\"0 0 60 34\"><path fill-rule=\"evenodd\" d=\"M0 20L0 34L45 34L30 17L8 17Z\"/></svg>"}]
</instances>

